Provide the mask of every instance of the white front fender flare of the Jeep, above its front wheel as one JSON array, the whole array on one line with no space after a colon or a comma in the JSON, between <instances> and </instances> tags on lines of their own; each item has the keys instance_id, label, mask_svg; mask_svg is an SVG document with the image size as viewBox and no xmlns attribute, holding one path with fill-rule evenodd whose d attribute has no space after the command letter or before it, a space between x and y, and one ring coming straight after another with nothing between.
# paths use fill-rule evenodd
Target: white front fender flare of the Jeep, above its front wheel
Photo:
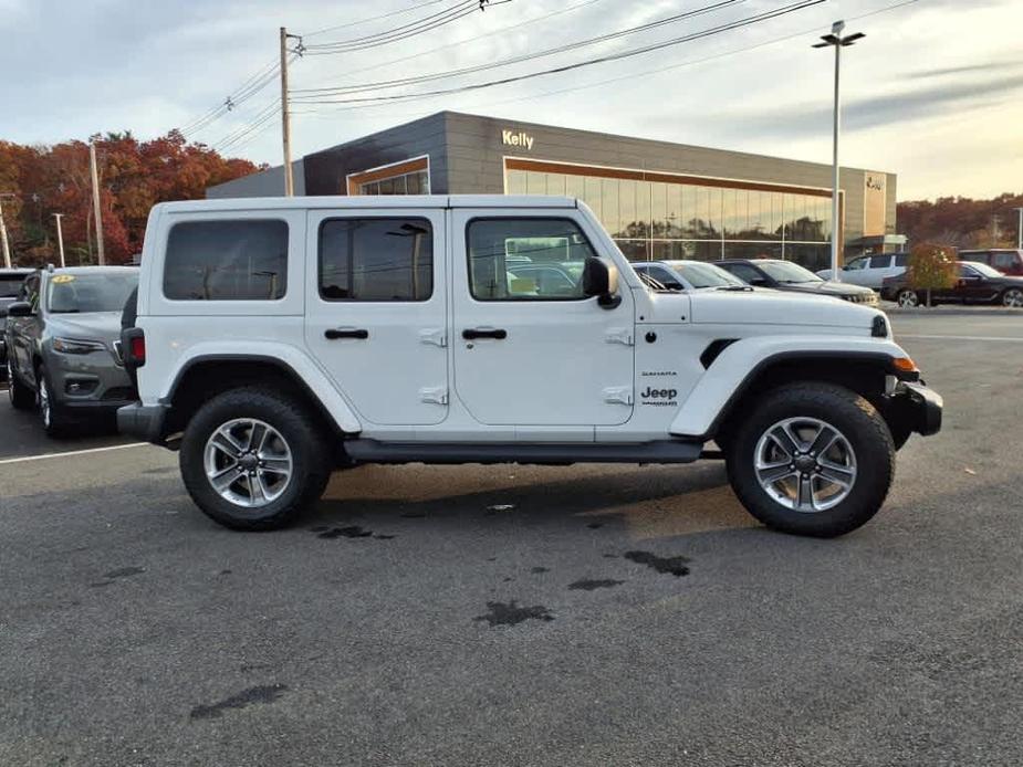
<instances>
[{"instance_id":1,"label":"white front fender flare of the Jeep, above its front wheel","mask_svg":"<svg viewBox=\"0 0 1023 767\"><path fill-rule=\"evenodd\" d=\"M681 403L668 431L676 437L713 439L731 408L768 368L793 360L834 360L836 364L876 363L890 371L891 360L908 357L897 344L875 338L828 336L751 337L731 344L713 360Z\"/></svg>"}]
</instances>

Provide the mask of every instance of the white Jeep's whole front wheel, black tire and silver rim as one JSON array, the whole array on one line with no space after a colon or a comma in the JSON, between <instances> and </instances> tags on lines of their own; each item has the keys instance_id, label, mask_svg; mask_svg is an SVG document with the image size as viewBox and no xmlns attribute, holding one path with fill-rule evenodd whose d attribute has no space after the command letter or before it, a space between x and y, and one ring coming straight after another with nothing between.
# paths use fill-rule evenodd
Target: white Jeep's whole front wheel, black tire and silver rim
<instances>
[{"instance_id":1,"label":"white Jeep's whole front wheel, black tire and silver rim","mask_svg":"<svg viewBox=\"0 0 1023 767\"><path fill-rule=\"evenodd\" d=\"M728 474L747 509L785 533L834 537L881 507L895 445L880 413L829 384L768 393L735 431Z\"/></svg>"}]
</instances>

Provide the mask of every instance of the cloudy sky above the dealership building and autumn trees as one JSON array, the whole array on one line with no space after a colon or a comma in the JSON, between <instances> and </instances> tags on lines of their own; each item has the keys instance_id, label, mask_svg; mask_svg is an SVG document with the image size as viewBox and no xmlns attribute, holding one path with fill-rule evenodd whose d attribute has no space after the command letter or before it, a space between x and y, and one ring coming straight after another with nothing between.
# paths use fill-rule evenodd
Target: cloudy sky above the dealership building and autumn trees
<instances>
[{"instance_id":1,"label":"cloudy sky above the dealership building and autumn trees","mask_svg":"<svg viewBox=\"0 0 1023 767\"><path fill-rule=\"evenodd\" d=\"M238 108L200 119L247 82L262 82L258 75L270 72L278 54L279 27L302 34L311 53L457 2L0 0L0 139L45 144L123 129L146 138L191 124L201 130L190 138L279 164L280 120L267 117L280 97L276 80ZM306 54L291 66L292 87L375 84L490 63L712 2L510 0L425 34ZM793 2L722 3L575 51L372 94L526 74ZM421 8L400 12L415 4ZM392 11L398 13L364 22ZM899 174L900 199L1023 191L1023 0L826 0L630 59L497 87L383 104L296 104L294 155L455 109L828 162L833 59L810 45L835 19L847 20L847 33L867 34L843 57L843 164Z\"/></svg>"}]
</instances>

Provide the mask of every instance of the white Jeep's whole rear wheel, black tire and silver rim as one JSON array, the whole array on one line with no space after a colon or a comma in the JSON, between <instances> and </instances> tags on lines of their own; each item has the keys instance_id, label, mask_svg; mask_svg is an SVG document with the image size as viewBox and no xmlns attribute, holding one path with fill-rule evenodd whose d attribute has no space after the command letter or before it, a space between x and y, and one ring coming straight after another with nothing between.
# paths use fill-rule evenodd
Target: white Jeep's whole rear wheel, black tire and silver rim
<instances>
[{"instance_id":1,"label":"white Jeep's whole rear wheel, black tire and silver rim","mask_svg":"<svg viewBox=\"0 0 1023 767\"><path fill-rule=\"evenodd\" d=\"M232 389L207 402L181 439L181 479L226 527L264 530L312 506L330 479L330 450L301 403L269 389Z\"/></svg>"}]
</instances>

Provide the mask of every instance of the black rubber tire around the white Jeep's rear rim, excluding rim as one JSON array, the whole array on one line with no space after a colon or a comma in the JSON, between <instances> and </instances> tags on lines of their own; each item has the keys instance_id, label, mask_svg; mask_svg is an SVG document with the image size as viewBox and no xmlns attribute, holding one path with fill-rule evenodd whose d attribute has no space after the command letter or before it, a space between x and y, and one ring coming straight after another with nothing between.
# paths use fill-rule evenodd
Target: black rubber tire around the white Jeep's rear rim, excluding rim
<instances>
[{"instance_id":1,"label":"black rubber tire around the white Jeep's rear rim, excluding rim","mask_svg":"<svg viewBox=\"0 0 1023 767\"><path fill-rule=\"evenodd\" d=\"M255 419L274 429L291 453L292 472L280 496L247 508L221 496L206 474L208 440L234 419ZM316 503L331 476L330 445L301 402L273 389L244 387L218 395L189 421L179 464L185 487L211 519L237 530L283 527Z\"/></svg>"}]
</instances>

